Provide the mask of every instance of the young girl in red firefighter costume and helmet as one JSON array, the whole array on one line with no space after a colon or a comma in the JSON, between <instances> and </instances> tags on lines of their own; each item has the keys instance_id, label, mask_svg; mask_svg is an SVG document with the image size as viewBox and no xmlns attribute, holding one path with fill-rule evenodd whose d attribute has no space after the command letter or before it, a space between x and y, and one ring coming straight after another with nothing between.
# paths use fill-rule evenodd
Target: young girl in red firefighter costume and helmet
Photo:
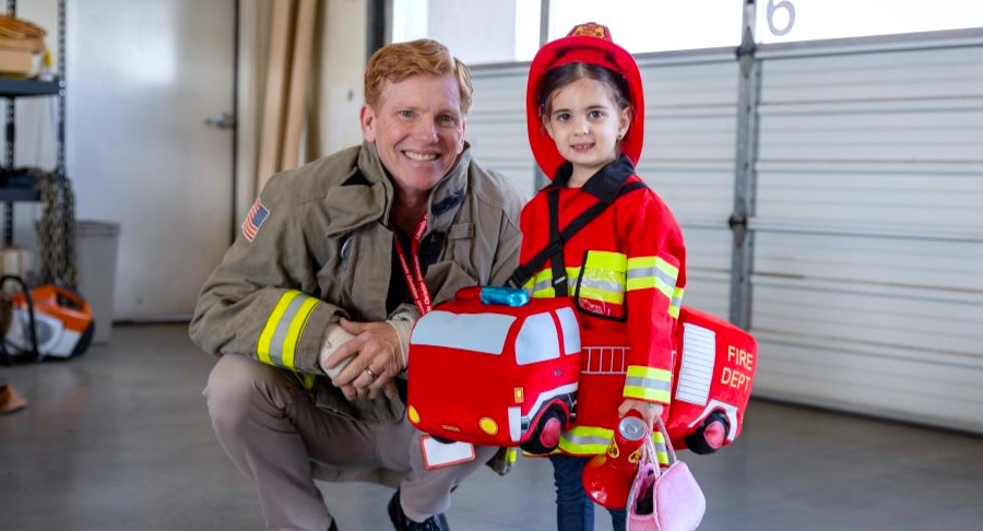
<instances>
[{"instance_id":1,"label":"young girl in red firefighter costume and helmet","mask_svg":"<svg viewBox=\"0 0 983 531\"><path fill-rule=\"evenodd\" d=\"M593 529L581 484L587 461L606 450L629 412L650 426L667 412L686 252L672 212L636 175L641 75L607 27L578 25L538 51L526 117L533 154L553 182L522 211L524 286L534 297L572 297L585 345L630 346L623 366L584 358L576 424L550 456L559 530ZM583 226L565 233L571 224ZM624 530L625 510L611 512L614 529Z\"/></svg>"}]
</instances>

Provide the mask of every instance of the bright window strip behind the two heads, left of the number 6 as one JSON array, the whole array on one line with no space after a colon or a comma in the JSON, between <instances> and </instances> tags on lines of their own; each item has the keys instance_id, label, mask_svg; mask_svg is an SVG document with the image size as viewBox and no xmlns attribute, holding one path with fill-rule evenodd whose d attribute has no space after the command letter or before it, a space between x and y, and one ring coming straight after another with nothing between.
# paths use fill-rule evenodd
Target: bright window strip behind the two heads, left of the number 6
<instances>
[{"instance_id":1,"label":"bright window strip behind the two heads, left of the number 6","mask_svg":"<svg viewBox=\"0 0 983 531\"><path fill-rule=\"evenodd\" d=\"M436 38L469 66L530 61L544 36L584 22L608 26L633 54L736 47L743 13L739 0L393 0L392 9L392 42Z\"/></svg>"}]
</instances>

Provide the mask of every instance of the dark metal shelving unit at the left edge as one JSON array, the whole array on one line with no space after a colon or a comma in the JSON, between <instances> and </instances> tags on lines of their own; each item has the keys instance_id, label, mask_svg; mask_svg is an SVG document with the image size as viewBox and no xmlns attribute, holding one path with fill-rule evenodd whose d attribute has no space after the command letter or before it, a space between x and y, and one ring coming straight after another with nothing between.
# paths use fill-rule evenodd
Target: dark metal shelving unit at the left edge
<instances>
[{"instance_id":1,"label":"dark metal shelving unit at the left edge","mask_svg":"<svg viewBox=\"0 0 983 531\"><path fill-rule=\"evenodd\" d=\"M14 16L17 13L16 0L7 0L7 14ZM5 117L4 117L4 157L3 169L14 169L14 146L16 141L16 113L15 102L21 97L57 97L58 98L58 117L57 117L57 167L56 173L59 179L66 176L64 170L64 23L66 23L66 5L64 0L58 0L58 75L50 81L32 80L32 79L13 79L0 78L0 97L5 99ZM34 188L2 188L0 187L0 201L3 206L3 245L10 247L13 245L13 208L15 202L38 201L40 192L35 186Z\"/></svg>"}]
</instances>

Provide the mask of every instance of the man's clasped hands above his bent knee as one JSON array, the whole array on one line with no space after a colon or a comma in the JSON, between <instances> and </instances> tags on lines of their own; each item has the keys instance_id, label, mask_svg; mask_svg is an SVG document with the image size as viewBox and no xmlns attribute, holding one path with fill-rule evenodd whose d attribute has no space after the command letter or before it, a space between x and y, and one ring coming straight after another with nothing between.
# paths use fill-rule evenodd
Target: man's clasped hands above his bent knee
<instances>
[{"instance_id":1,"label":"man's clasped hands above his bent knee","mask_svg":"<svg viewBox=\"0 0 983 531\"><path fill-rule=\"evenodd\" d=\"M400 337L395 330L387 322L356 322L343 318L339 323L355 338L342 343L324 361L324 368L328 369L340 365L345 358L352 358L332 378L332 384L348 400L376 398L380 390L389 398L395 397L396 387L392 379L404 368Z\"/></svg>"}]
</instances>

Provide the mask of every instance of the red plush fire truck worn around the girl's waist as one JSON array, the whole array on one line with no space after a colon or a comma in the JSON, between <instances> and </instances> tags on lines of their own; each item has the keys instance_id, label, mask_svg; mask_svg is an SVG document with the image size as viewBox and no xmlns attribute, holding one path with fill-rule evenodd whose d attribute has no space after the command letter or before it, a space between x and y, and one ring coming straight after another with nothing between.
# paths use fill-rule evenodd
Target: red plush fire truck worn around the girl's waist
<instances>
[{"instance_id":1,"label":"red plush fire truck worn around the girl's waist","mask_svg":"<svg viewBox=\"0 0 983 531\"><path fill-rule=\"evenodd\" d=\"M741 433L756 368L754 338L708 314L679 314L666 428L676 448L710 453ZM625 377L624 339L581 334L569 298L466 287L417 321L407 414L441 441L556 449L577 418L581 379Z\"/></svg>"}]
</instances>

